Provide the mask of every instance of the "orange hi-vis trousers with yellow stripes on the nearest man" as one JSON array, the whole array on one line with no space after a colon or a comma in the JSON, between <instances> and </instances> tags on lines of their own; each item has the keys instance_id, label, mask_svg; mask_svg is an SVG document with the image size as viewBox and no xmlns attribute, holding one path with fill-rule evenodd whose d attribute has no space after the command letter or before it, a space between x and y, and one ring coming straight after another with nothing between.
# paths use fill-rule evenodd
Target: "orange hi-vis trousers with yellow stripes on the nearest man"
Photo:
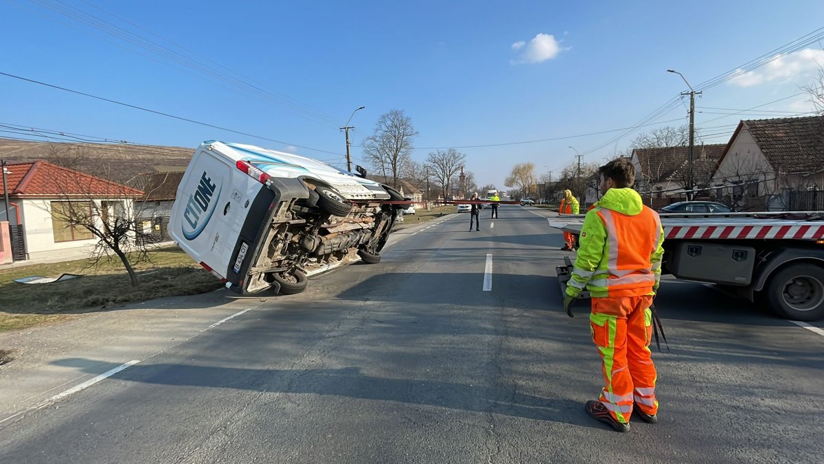
<instances>
[{"instance_id":1,"label":"orange hi-vis trousers with yellow stripes on the nearest man","mask_svg":"<svg viewBox=\"0 0 824 464\"><path fill-rule=\"evenodd\" d=\"M606 386L598 398L619 422L630 422L633 403L644 414L658 414L651 296L592 298L592 341L601 354Z\"/></svg>"}]
</instances>

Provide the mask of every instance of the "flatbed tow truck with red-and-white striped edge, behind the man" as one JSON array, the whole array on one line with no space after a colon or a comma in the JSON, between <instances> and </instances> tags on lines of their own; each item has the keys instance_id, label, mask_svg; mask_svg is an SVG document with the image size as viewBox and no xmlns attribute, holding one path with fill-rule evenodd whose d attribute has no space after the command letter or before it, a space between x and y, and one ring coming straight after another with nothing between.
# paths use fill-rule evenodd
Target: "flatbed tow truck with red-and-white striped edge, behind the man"
<instances>
[{"instance_id":1,"label":"flatbed tow truck with red-and-white striped edge, behind the man","mask_svg":"<svg viewBox=\"0 0 824 464\"><path fill-rule=\"evenodd\" d=\"M662 274L718 284L794 321L824 317L824 214L664 213ZM576 235L584 215L552 227ZM572 261L556 268L562 290ZM584 295L587 296L587 295Z\"/></svg>"}]
</instances>

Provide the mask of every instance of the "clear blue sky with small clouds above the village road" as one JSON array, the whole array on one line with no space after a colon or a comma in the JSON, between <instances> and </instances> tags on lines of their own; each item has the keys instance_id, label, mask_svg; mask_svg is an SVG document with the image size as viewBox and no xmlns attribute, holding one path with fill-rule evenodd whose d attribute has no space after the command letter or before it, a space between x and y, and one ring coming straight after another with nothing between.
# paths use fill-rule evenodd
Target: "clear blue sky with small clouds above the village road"
<instances>
[{"instance_id":1,"label":"clear blue sky with small clouds above the village road","mask_svg":"<svg viewBox=\"0 0 824 464\"><path fill-rule=\"evenodd\" d=\"M557 176L576 159L570 145L585 162L625 150L657 126L573 136L632 127L672 102L686 84L667 68L700 87L820 34L824 2L7 0L0 17L2 73L262 138L6 76L0 123L192 148L220 139L341 166L339 127L365 105L352 120L355 162L380 115L403 110L419 131L416 161L454 147L479 185L503 187L518 162ZM726 109L798 94L824 66L822 43L705 89L705 142L726 143L740 119L812 110L807 96ZM688 103L650 122L686 124Z\"/></svg>"}]
</instances>

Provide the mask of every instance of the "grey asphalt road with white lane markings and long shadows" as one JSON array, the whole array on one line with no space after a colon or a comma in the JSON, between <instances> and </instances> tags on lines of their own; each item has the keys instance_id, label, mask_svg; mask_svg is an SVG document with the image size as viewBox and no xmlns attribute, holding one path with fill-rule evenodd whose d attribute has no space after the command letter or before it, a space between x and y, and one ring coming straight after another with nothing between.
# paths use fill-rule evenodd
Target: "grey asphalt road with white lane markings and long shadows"
<instances>
[{"instance_id":1,"label":"grey asphalt road with white lane markings and long shadows","mask_svg":"<svg viewBox=\"0 0 824 464\"><path fill-rule=\"evenodd\" d=\"M824 336L702 284L658 296L659 423L590 419L600 361L546 214L396 232L378 265L0 425L0 462L822 462ZM90 358L58 363L117 366Z\"/></svg>"}]
</instances>

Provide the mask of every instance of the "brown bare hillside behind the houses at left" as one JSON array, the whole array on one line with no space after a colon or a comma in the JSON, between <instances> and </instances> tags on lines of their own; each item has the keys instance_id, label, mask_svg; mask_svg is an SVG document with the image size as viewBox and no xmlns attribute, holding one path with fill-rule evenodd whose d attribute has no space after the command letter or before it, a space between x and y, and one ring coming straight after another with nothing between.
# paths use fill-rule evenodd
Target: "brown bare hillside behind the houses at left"
<instances>
[{"instance_id":1,"label":"brown bare hillside behind the houses at left","mask_svg":"<svg viewBox=\"0 0 824 464\"><path fill-rule=\"evenodd\" d=\"M138 174L184 171L194 148L105 143L25 142L0 138L7 162L45 160L60 166L125 182Z\"/></svg>"}]
</instances>

